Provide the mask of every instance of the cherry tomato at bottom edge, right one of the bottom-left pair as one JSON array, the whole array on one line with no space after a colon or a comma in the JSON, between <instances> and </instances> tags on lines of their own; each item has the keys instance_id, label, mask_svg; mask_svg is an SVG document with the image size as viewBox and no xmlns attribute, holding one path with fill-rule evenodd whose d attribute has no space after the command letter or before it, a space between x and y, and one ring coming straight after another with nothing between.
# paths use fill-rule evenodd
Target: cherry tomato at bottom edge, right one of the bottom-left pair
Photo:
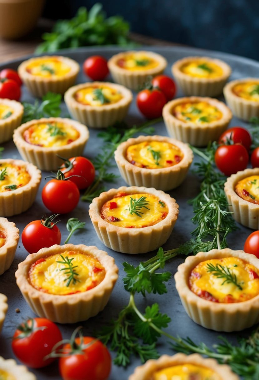
<instances>
[{"instance_id":1,"label":"cherry tomato at bottom edge, right one of the bottom-left pair","mask_svg":"<svg viewBox=\"0 0 259 380\"><path fill-rule=\"evenodd\" d=\"M111 355L106 346L92 337L76 338L74 343L65 344L68 355L59 359L59 370L63 380L107 380L111 372ZM89 345L88 345L89 344ZM88 347L84 347L88 345Z\"/></svg>"}]
</instances>

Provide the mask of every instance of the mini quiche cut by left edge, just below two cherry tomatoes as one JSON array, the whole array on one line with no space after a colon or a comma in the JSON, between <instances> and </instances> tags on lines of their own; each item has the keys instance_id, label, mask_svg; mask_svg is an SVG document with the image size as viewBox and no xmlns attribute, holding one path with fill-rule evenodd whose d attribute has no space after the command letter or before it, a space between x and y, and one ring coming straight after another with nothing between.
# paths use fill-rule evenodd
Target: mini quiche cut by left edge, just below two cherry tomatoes
<instances>
[{"instance_id":1,"label":"mini quiche cut by left edge, just below two cherry tomatoes","mask_svg":"<svg viewBox=\"0 0 259 380\"><path fill-rule=\"evenodd\" d=\"M0 99L0 144L13 136L15 128L21 125L24 107L16 100Z\"/></svg>"}]
</instances>

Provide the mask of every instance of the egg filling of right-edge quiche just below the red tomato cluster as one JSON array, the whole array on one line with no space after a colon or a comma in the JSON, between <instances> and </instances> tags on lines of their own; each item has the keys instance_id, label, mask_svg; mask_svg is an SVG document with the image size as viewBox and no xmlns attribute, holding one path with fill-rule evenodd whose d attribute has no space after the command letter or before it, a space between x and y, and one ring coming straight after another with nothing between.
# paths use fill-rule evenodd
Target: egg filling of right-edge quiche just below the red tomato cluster
<instances>
[{"instance_id":1,"label":"egg filling of right-edge quiche just below the red tomato cluster","mask_svg":"<svg viewBox=\"0 0 259 380\"><path fill-rule=\"evenodd\" d=\"M245 201L259 204L259 176L250 176L238 181L235 192Z\"/></svg>"}]
</instances>

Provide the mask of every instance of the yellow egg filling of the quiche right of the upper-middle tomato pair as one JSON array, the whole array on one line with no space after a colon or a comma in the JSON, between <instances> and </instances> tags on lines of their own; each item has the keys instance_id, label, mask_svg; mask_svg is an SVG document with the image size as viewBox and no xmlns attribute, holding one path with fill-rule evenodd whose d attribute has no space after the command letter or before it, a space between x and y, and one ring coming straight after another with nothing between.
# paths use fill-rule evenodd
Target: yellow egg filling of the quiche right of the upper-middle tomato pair
<instances>
[{"instance_id":1,"label":"yellow egg filling of the quiche right of the upper-middle tomato pair","mask_svg":"<svg viewBox=\"0 0 259 380\"><path fill-rule=\"evenodd\" d=\"M218 108L205 101L180 103L172 109L172 115L185 123L197 125L215 122L223 116Z\"/></svg>"}]
</instances>

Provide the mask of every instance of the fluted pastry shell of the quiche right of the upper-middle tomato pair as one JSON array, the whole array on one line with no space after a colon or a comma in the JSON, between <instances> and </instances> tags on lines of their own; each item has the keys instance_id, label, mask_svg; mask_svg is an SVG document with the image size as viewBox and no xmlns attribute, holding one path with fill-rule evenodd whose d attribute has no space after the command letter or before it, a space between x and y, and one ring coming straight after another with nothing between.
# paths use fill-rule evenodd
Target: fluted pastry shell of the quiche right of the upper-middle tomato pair
<instances>
[{"instance_id":1,"label":"fluted pastry shell of the quiche right of the upper-middle tomato pair","mask_svg":"<svg viewBox=\"0 0 259 380\"><path fill-rule=\"evenodd\" d=\"M218 108L223 116L220 120L197 125L191 122L182 122L172 115L172 109L184 102L204 101ZM232 118L232 112L222 102L208 97L185 97L169 101L163 108L163 119L169 136L187 142L193 146L206 146L208 142L218 140L221 133L227 129Z\"/></svg>"}]
</instances>

